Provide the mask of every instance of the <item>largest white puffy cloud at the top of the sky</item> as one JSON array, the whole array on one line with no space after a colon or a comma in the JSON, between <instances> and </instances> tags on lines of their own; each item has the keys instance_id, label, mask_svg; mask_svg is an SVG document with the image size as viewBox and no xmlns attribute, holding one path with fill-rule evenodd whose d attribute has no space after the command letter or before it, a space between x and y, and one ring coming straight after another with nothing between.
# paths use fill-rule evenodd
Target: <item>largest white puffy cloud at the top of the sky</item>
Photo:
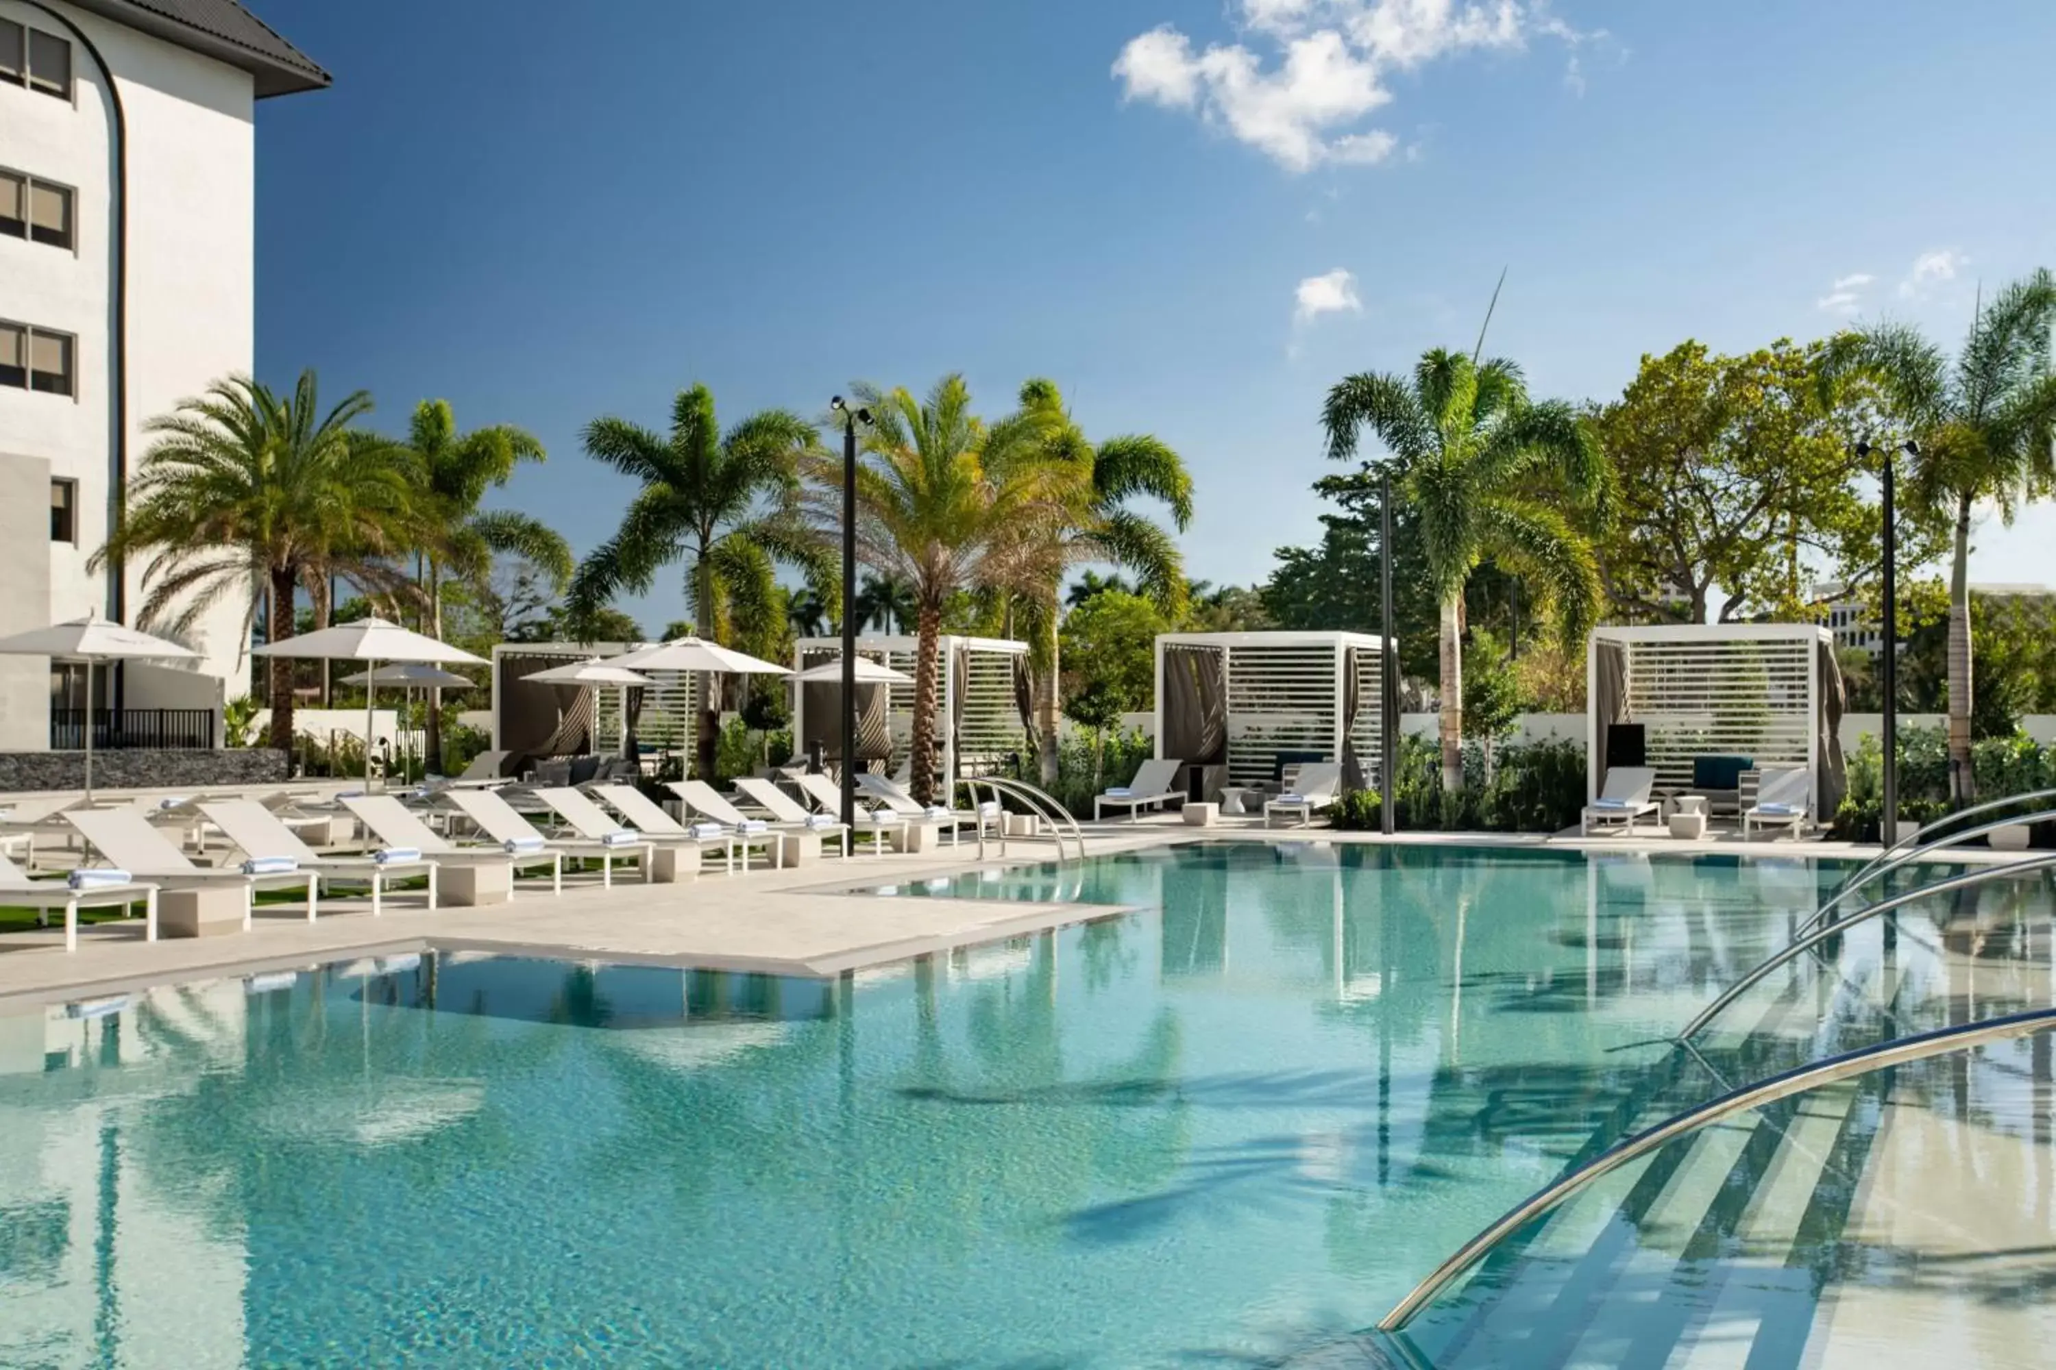
<instances>
[{"instance_id":1,"label":"largest white puffy cloud at the top of the sky","mask_svg":"<svg viewBox=\"0 0 2056 1370\"><path fill-rule=\"evenodd\" d=\"M1398 140L1361 121L1392 101L1388 72L1470 49L1519 49L1530 35L1577 47L1589 37L1544 0L1236 0L1248 43L1192 47L1164 25L1114 62L1123 99L1197 111L1293 173L1322 162L1384 162ZM1567 84L1583 90L1575 58Z\"/></svg>"}]
</instances>

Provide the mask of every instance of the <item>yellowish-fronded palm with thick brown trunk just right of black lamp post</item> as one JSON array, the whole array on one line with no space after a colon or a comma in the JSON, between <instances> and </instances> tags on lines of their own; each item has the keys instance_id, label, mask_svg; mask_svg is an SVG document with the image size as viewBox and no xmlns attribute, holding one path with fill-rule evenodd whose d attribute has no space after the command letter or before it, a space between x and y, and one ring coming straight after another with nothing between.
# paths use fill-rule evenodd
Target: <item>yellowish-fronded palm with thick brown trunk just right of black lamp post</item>
<instances>
[{"instance_id":1,"label":"yellowish-fronded palm with thick brown trunk just right of black lamp post","mask_svg":"<svg viewBox=\"0 0 2056 1370\"><path fill-rule=\"evenodd\" d=\"M1038 583L1042 546L1086 497L1077 464L1049 458L1044 415L1022 411L997 423L970 413L962 376L944 376L915 398L905 388L853 392L872 411L857 464L857 555L913 589L915 705L913 789L935 789L935 702L942 614L962 589ZM841 522L843 464L816 456L810 503L822 526Z\"/></svg>"}]
</instances>

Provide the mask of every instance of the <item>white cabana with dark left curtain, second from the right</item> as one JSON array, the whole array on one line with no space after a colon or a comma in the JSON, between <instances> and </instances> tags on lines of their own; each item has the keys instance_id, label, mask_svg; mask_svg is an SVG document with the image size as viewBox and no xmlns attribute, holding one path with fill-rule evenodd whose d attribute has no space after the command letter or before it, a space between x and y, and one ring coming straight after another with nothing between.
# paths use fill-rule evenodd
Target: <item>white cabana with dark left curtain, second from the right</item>
<instances>
[{"instance_id":1,"label":"white cabana with dark left curtain, second from the right","mask_svg":"<svg viewBox=\"0 0 2056 1370\"><path fill-rule=\"evenodd\" d=\"M1386 639L1369 633L1164 633L1155 647L1155 754L1264 785L1293 762L1341 762L1378 785ZM1355 770L1355 774L1353 774Z\"/></svg>"}]
</instances>

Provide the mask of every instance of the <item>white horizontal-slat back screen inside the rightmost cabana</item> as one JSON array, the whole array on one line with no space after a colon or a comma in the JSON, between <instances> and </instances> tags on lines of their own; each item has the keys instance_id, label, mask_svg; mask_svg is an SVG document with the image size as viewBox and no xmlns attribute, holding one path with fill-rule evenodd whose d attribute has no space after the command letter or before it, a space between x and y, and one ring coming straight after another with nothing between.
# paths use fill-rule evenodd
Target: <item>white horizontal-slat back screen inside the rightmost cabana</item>
<instances>
[{"instance_id":1,"label":"white horizontal-slat back screen inside the rightmost cabana","mask_svg":"<svg viewBox=\"0 0 2056 1370\"><path fill-rule=\"evenodd\" d=\"M1659 785L1690 785L1694 756L1811 766L1815 643L1628 639L1630 723L1645 727Z\"/></svg>"}]
</instances>

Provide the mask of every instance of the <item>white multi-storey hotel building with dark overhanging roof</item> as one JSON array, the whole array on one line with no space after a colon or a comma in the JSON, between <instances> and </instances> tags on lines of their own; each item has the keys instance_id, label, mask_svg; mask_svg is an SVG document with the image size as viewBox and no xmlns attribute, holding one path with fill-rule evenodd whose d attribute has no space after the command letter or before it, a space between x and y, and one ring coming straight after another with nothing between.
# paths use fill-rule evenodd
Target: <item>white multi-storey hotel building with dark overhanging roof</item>
<instances>
[{"instance_id":1,"label":"white multi-storey hotel building with dark overhanging roof","mask_svg":"<svg viewBox=\"0 0 2056 1370\"><path fill-rule=\"evenodd\" d=\"M0 0L0 635L136 620L142 567L86 561L144 421L253 370L255 107L327 84L236 0ZM189 645L197 670L99 674L95 707L243 692L243 606ZM49 748L82 692L76 668L0 657L0 752Z\"/></svg>"}]
</instances>

